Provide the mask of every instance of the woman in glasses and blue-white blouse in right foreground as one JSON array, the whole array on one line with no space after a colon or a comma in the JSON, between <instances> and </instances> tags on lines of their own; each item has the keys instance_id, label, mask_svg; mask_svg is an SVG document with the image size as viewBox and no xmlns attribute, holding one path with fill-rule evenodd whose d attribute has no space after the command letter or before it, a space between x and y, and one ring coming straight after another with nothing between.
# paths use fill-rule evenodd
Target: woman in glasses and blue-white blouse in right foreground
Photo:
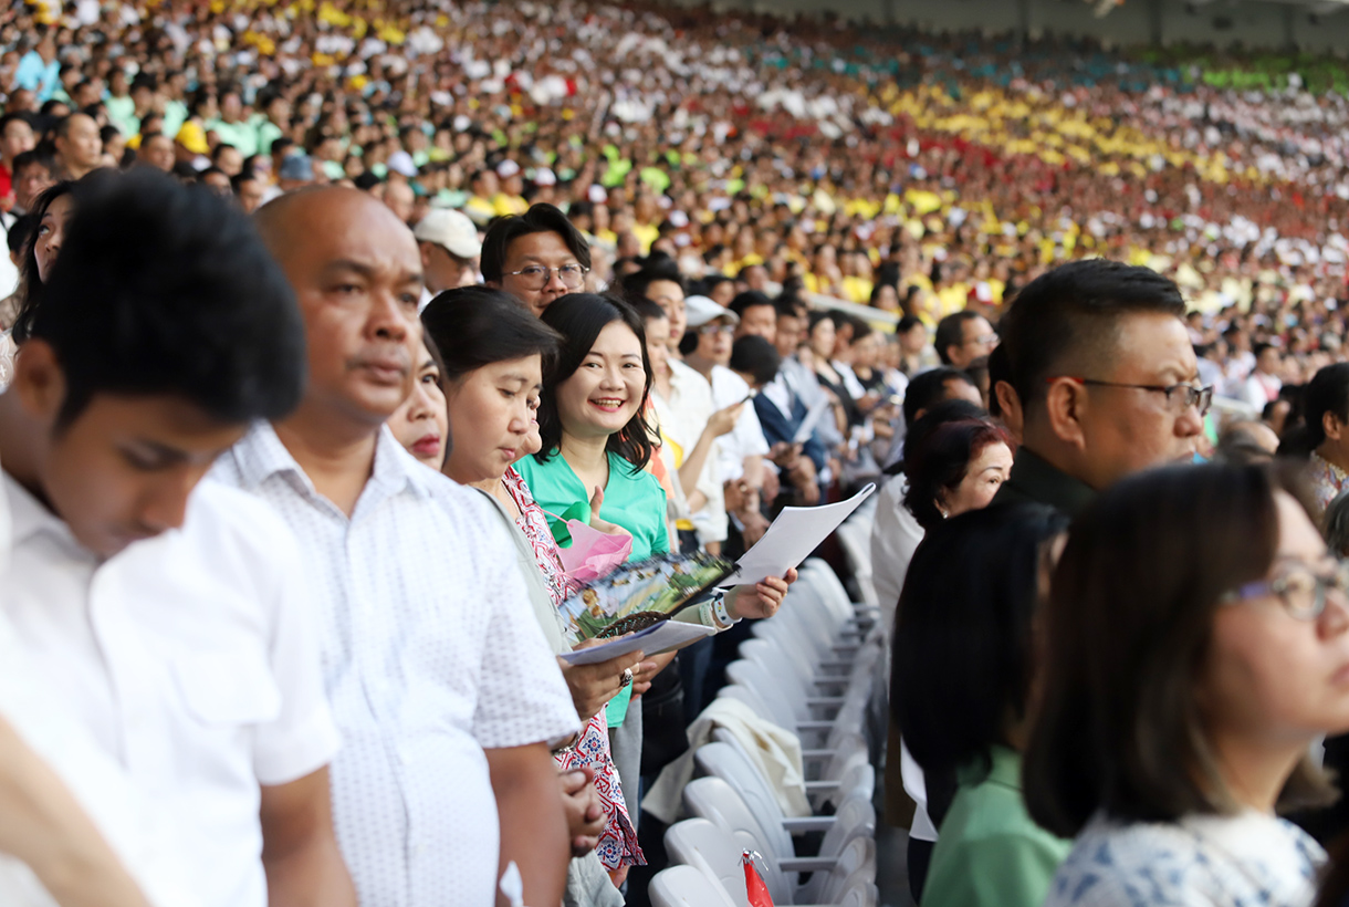
<instances>
[{"instance_id":1,"label":"woman in glasses and blue-white blouse in right foreground","mask_svg":"<svg viewBox=\"0 0 1349 907\"><path fill-rule=\"evenodd\" d=\"M1074 524L1024 769L1077 838L1047 907L1311 903L1325 853L1276 813L1333 795L1349 599L1309 513L1267 467L1168 467Z\"/></svg>"}]
</instances>

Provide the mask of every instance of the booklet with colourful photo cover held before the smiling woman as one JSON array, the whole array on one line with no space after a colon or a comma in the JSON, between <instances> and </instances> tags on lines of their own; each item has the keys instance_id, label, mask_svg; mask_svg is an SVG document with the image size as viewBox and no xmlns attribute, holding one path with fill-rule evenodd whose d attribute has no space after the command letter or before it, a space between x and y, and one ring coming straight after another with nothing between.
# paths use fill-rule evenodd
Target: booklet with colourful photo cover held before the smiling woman
<instances>
[{"instance_id":1,"label":"booklet with colourful photo cover held before the smiling woman","mask_svg":"<svg viewBox=\"0 0 1349 907\"><path fill-rule=\"evenodd\" d=\"M734 572L706 552L623 564L563 602L563 620L577 641L611 640L669 620Z\"/></svg>"}]
</instances>

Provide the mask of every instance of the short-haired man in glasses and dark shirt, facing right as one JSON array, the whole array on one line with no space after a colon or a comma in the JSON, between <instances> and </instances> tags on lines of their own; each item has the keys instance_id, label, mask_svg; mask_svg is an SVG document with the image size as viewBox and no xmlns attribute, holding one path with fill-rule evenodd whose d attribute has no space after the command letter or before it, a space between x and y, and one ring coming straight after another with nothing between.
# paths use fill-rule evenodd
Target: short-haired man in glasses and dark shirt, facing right
<instances>
[{"instance_id":1,"label":"short-haired man in glasses and dark shirt, facing right","mask_svg":"<svg viewBox=\"0 0 1349 907\"><path fill-rule=\"evenodd\" d=\"M1190 462L1213 391L1199 386L1176 285L1091 259L1033 281L1002 319L1024 443L996 503L1075 516L1097 491Z\"/></svg>"}]
</instances>

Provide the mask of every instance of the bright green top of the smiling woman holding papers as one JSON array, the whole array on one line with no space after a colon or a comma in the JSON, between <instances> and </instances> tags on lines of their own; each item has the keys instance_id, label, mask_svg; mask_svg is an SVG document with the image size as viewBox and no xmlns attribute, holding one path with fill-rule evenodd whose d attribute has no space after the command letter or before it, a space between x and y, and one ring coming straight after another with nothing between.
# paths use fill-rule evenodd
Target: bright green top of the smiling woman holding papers
<instances>
[{"instance_id":1,"label":"bright green top of the smiling woman holding papers","mask_svg":"<svg viewBox=\"0 0 1349 907\"><path fill-rule=\"evenodd\" d=\"M546 463L526 456L515 464L534 501L548 514L548 526L563 548L569 548L572 536L568 520L590 522L590 497L572 467L556 449ZM670 537L665 528L665 489L645 470L618 454L608 455L608 485L599 516L633 533L633 553L629 560L646 560L652 555L669 552Z\"/></svg>"}]
</instances>

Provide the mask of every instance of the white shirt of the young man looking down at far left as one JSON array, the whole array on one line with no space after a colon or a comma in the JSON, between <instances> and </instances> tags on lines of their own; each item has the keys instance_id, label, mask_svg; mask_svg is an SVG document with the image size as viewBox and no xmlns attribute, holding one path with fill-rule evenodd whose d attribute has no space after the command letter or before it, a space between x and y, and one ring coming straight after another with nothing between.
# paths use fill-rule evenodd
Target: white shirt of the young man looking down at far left
<instances>
[{"instance_id":1,"label":"white shirt of the young man looking down at far left","mask_svg":"<svg viewBox=\"0 0 1349 907\"><path fill-rule=\"evenodd\" d=\"M304 777L339 746L290 533L248 495L204 483L182 529L100 561L8 475L4 494L13 555L0 606L26 682L90 741L62 773L113 763L154 817L136 846L166 849L202 904L263 907L259 786ZM43 754L50 733L32 736ZM82 798L96 818L103 796L116 794Z\"/></svg>"}]
</instances>

